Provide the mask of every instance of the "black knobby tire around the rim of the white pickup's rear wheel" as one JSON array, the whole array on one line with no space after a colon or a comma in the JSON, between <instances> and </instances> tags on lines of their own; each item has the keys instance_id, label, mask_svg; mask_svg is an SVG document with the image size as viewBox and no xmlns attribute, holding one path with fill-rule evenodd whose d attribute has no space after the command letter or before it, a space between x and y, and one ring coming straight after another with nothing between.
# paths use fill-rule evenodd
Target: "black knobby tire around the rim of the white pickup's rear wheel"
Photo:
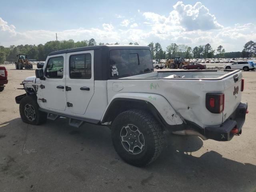
<instances>
[{"instance_id":1,"label":"black knobby tire around the rim of the white pickup's rear wheel","mask_svg":"<svg viewBox=\"0 0 256 192\"><path fill-rule=\"evenodd\" d=\"M134 125L144 137L144 147L139 154L128 152L122 144L121 130L127 125ZM119 114L112 124L112 142L118 155L128 164L145 166L152 163L164 145L164 134L161 125L154 116L144 110L127 110Z\"/></svg>"}]
</instances>

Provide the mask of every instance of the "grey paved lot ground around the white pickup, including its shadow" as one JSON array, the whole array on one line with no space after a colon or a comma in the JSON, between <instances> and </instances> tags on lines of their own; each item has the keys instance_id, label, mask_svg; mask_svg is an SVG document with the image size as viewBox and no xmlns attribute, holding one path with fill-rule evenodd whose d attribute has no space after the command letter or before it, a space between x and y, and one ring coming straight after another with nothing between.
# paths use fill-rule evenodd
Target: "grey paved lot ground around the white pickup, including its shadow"
<instances>
[{"instance_id":1,"label":"grey paved lot ground around the white pickup, including its shadow","mask_svg":"<svg viewBox=\"0 0 256 192\"><path fill-rule=\"evenodd\" d=\"M9 83L0 92L1 192L256 192L254 71L243 72L249 114L240 136L203 142L168 135L161 156L137 168L119 158L104 126L72 128L66 118L41 126L23 123L14 98L24 90L16 88L35 71L7 69Z\"/></svg>"}]
</instances>

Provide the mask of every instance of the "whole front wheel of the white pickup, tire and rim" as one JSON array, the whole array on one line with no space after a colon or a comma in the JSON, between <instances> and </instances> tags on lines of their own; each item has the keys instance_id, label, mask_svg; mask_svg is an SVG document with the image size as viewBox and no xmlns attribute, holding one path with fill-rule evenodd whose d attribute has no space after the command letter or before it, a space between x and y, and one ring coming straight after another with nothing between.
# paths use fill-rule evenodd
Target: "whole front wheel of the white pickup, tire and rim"
<instances>
[{"instance_id":1,"label":"whole front wheel of the white pickup, tire and rim","mask_svg":"<svg viewBox=\"0 0 256 192\"><path fill-rule=\"evenodd\" d=\"M39 106L34 95L28 95L20 101L20 117L23 122L40 125L47 120L47 113L39 111Z\"/></svg>"}]
</instances>

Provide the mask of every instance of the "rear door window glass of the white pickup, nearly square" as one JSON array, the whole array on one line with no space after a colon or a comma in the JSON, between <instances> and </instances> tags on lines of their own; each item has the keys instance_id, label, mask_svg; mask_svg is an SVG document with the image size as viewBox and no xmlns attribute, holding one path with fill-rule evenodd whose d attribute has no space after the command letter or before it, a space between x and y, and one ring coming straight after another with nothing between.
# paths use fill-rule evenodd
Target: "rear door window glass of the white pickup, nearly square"
<instances>
[{"instance_id":1,"label":"rear door window glass of the white pickup, nearly square","mask_svg":"<svg viewBox=\"0 0 256 192\"><path fill-rule=\"evenodd\" d=\"M69 76L72 79L90 79L92 77L91 54L71 55L69 59Z\"/></svg>"}]
</instances>

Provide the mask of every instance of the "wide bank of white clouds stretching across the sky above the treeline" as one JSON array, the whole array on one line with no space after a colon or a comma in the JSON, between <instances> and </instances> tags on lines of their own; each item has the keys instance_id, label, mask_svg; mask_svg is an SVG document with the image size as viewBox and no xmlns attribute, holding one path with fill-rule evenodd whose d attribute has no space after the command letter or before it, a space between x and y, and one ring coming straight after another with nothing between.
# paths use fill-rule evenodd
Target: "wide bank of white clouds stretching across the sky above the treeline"
<instances>
[{"instance_id":1,"label":"wide bank of white clouds stretching across the sky above the treeline","mask_svg":"<svg viewBox=\"0 0 256 192\"><path fill-rule=\"evenodd\" d=\"M197 2L194 5L177 2L168 16L144 12L140 18L123 19L120 25L116 22L103 23L98 28L77 28L56 31L59 40L74 41L94 38L96 42L128 44L138 42L147 45L150 42L160 42L165 49L171 43L191 46L210 43L213 49L224 46L226 52L241 51L246 42L256 40L256 24L236 24L221 26L210 10ZM129 26L129 27L128 27ZM127 28L124 28L127 27ZM0 18L0 45L12 44L44 44L55 40L55 31L28 30L20 32L14 25Z\"/></svg>"}]
</instances>

